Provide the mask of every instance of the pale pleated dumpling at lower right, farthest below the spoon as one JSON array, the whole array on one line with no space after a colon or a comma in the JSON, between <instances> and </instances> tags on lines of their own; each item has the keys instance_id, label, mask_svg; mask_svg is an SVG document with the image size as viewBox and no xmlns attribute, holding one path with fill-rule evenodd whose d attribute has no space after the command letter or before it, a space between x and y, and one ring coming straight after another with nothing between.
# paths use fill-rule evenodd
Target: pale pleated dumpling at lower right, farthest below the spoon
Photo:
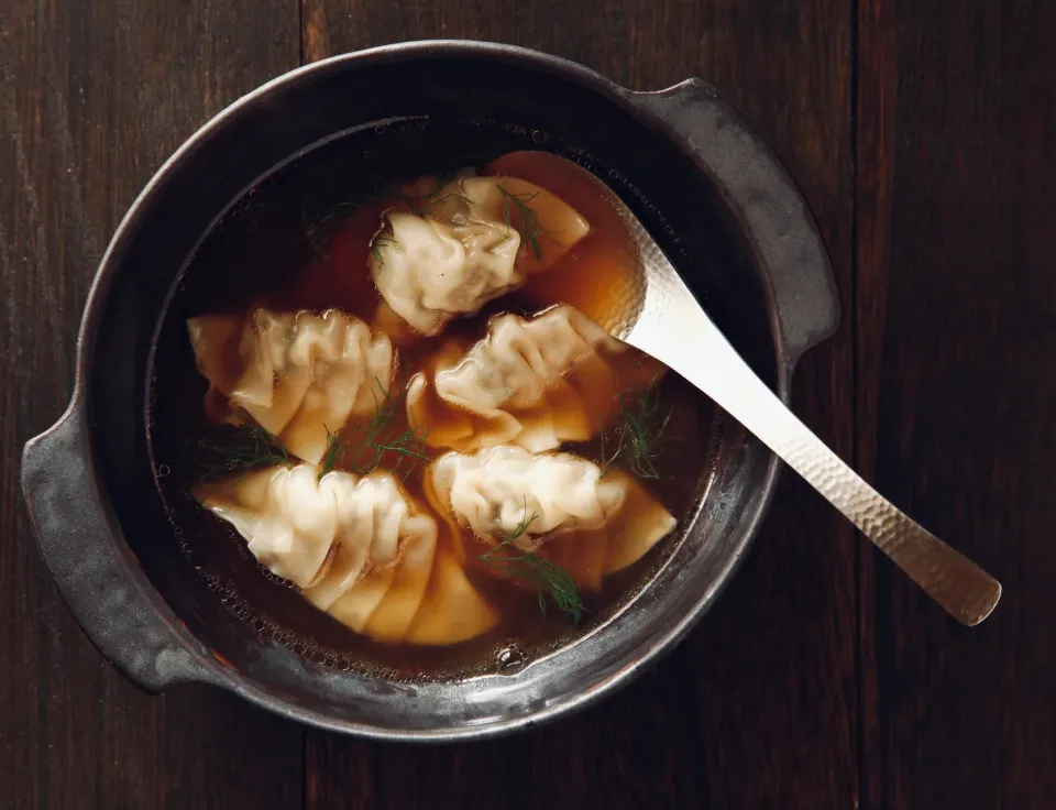
<instances>
[{"instance_id":1,"label":"pale pleated dumpling at lower right, farthest below the spoon","mask_svg":"<svg viewBox=\"0 0 1056 810\"><path fill-rule=\"evenodd\" d=\"M675 527L674 516L629 475L603 475L570 453L512 446L450 452L430 467L428 492L484 544L514 537L513 545L539 550L593 590Z\"/></svg>"}]
</instances>

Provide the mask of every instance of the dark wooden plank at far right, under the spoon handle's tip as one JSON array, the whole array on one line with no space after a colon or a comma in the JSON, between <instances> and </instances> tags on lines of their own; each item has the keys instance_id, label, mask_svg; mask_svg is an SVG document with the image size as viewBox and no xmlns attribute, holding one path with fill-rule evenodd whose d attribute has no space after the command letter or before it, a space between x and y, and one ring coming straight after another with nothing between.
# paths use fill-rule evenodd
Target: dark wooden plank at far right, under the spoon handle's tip
<instances>
[{"instance_id":1,"label":"dark wooden plank at far right, under the spoon handle's tip","mask_svg":"<svg viewBox=\"0 0 1056 810\"><path fill-rule=\"evenodd\" d=\"M859 11L860 460L1004 584L966 630L862 556L862 807L1054 807L1056 7Z\"/></svg>"}]
</instances>

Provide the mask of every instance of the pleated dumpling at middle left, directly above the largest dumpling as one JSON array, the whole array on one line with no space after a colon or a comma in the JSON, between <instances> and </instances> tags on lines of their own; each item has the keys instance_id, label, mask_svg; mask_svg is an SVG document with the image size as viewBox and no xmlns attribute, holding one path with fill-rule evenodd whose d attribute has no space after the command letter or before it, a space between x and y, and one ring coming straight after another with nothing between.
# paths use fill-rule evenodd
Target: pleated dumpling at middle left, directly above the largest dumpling
<instances>
[{"instance_id":1,"label":"pleated dumpling at middle left, directly above the largest dumpling","mask_svg":"<svg viewBox=\"0 0 1056 810\"><path fill-rule=\"evenodd\" d=\"M238 422L240 409L294 456L318 463L352 415L373 414L393 376L393 344L337 309L322 315L253 310L187 321L207 412Z\"/></svg>"}]
</instances>

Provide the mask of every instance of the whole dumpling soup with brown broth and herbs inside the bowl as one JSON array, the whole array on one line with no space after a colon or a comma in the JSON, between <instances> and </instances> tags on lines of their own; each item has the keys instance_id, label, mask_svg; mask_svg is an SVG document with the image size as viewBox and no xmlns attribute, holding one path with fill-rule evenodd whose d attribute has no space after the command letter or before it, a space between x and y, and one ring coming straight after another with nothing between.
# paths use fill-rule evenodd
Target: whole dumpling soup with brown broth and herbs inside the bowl
<instances>
[{"instance_id":1,"label":"whole dumpling soup with brown broth and herbs inside the bowl","mask_svg":"<svg viewBox=\"0 0 1056 810\"><path fill-rule=\"evenodd\" d=\"M207 236L162 329L152 442L185 551L342 669L573 638L700 494L711 406L602 328L640 294L619 216L546 154L481 155L385 179L353 136L285 167Z\"/></svg>"}]
</instances>

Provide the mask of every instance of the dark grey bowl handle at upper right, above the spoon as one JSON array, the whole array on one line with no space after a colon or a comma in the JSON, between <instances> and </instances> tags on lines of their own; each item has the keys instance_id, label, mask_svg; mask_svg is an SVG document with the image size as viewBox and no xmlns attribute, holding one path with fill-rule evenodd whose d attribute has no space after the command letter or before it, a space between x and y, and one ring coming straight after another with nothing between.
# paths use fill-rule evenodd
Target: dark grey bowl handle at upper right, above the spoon
<instances>
[{"instance_id":1,"label":"dark grey bowl handle at upper right, above the spoon","mask_svg":"<svg viewBox=\"0 0 1056 810\"><path fill-rule=\"evenodd\" d=\"M708 175L755 245L773 293L785 368L831 337L839 297L825 244L789 173L714 87L688 79L626 91Z\"/></svg>"}]
</instances>

